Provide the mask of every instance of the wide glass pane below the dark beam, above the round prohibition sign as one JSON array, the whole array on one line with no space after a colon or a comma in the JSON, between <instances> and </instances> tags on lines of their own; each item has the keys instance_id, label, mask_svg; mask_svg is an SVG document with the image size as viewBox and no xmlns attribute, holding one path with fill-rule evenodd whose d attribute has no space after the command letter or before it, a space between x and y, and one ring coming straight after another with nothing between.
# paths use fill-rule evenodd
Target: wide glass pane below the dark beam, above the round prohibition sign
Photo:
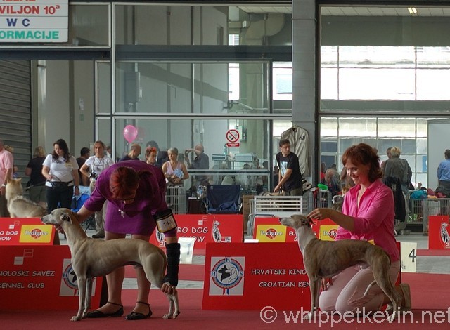
<instances>
[{"instance_id":1,"label":"wide glass pane below the dark beam, above the round prohibition sign","mask_svg":"<svg viewBox=\"0 0 450 330\"><path fill-rule=\"evenodd\" d=\"M120 61L116 112L269 113L267 70L266 62Z\"/></svg>"}]
</instances>

